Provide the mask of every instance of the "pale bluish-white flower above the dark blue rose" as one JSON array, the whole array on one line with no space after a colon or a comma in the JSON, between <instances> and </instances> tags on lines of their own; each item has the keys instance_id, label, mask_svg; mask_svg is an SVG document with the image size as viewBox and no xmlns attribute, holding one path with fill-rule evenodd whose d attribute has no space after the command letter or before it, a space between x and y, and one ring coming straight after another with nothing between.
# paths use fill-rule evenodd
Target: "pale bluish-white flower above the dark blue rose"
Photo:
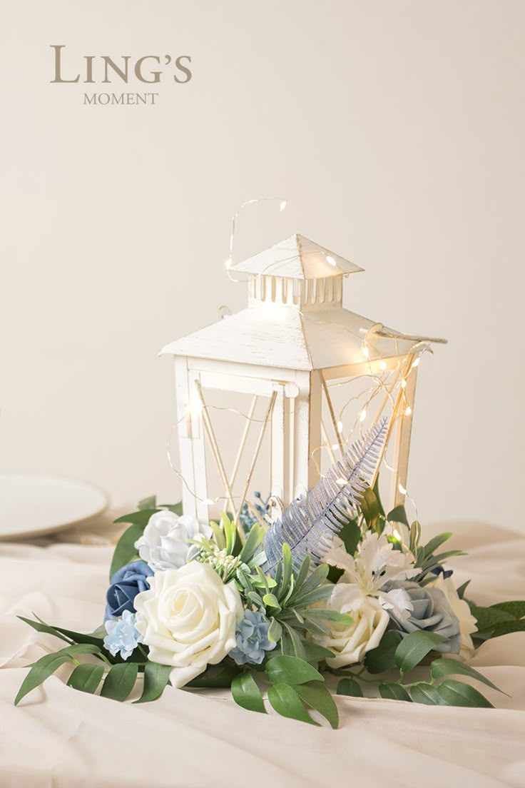
<instances>
[{"instance_id":1,"label":"pale bluish-white flower above the dark blue rose","mask_svg":"<svg viewBox=\"0 0 525 788\"><path fill-rule=\"evenodd\" d=\"M192 547L188 540L211 535L211 528L201 525L191 515L179 517L172 511L157 511L148 520L142 537L135 542L135 548L154 572L179 569L186 563Z\"/></svg>"}]
</instances>

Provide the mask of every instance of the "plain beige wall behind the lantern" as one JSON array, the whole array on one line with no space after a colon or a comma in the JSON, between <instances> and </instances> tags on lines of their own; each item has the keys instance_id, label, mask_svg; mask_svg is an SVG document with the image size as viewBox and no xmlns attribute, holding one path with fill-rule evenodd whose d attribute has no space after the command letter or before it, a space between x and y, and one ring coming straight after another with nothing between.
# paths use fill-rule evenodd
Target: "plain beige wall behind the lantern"
<instances>
[{"instance_id":1,"label":"plain beige wall behind the lantern","mask_svg":"<svg viewBox=\"0 0 525 788\"><path fill-rule=\"evenodd\" d=\"M366 269L348 307L449 338L420 369L420 518L523 528L523 0L19 0L1 28L0 469L174 497L157 350L242 307L231 214L277 194L239 251L303 232ZM83 106L58 43L194 76Z\"/></svg>"}]
</instances>

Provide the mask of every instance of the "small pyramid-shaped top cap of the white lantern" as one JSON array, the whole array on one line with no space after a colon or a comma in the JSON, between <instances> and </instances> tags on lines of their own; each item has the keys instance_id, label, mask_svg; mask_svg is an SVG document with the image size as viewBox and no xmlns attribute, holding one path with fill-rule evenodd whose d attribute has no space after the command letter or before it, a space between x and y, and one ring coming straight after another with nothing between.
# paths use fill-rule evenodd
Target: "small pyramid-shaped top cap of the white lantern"
<instances>
[{"instance_id":1,"label":"small pyramid-shaped top cap of the white lantern","mask_svg":"<svg viewBox=\"0 0 525 788\"><path fill-rule=\"evenodd\" d=\"M288 279L324 279L363 269L309 238L294 233L232 266L231 270Z\"/></svg>"}]
</instances>

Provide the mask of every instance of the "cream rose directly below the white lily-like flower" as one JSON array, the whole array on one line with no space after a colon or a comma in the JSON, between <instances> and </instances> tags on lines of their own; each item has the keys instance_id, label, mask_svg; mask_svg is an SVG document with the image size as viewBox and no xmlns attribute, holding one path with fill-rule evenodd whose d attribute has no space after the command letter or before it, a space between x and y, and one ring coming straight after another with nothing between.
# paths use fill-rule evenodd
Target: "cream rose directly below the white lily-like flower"
<instances>
[{"instance_id":1,"label":"cream rose directly below the white lily-like flower","mask_svg":"<svg viewBox=\"0 0 525 788\"><path fill-rule=\"evenodd\" d=\"M339 582L324 605L328 610L348 613L353 623L327 621L330 634L316 636L316 643L335 652L327 659L330 667L346 667L360 662L365 653L375 649L383 637L389 615L375 597L365 597L358 585Z\"/></svg>"}]
</instances>

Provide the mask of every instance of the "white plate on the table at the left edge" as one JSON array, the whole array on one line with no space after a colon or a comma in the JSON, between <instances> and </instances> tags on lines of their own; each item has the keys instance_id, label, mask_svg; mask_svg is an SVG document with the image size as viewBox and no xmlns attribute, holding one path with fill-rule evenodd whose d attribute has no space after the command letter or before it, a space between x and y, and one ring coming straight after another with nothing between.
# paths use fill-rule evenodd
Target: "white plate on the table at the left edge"
<instances>
[{"instance_id":1,"label":"white plate on the table at the left edge","mask_svg":"<svg viewBox=\"0 0 525 788\"><path fill-rule=\"evenodd\" d=\"M0 540L79 526L101 515L107 505L105 493L83 481L0 474Z\"/></svg>"}]
</instances>

